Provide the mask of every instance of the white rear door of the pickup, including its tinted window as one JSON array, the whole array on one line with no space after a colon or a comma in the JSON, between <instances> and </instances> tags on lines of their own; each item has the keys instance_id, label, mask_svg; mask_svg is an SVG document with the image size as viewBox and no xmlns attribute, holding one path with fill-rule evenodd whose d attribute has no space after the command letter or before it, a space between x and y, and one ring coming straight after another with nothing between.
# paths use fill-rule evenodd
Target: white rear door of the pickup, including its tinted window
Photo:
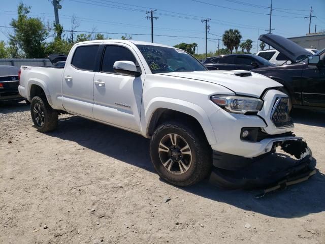
<instances>
[{"instance_id":1,"label":"white rear door of the pickup, including its tinted window","mask_svg":"<svg viewBox=\"0 0 325 244\"><path fill-rule=\"evenodd\" d=\"M93 117L92 82L99 47L97 44L77 46L66 62L62 95L63 107L68 112Z\"/></svg>"}]
</instances>

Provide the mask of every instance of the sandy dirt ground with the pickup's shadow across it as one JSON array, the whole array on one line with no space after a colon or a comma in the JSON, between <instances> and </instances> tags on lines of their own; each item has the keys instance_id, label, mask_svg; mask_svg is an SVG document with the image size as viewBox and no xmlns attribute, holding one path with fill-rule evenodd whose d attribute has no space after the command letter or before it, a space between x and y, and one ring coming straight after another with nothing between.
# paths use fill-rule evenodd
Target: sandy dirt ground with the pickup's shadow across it
<instances>
[{"instance_id":1,"label":"sandy dirt ground with the pickup's shadow across it","mask_svg":"<svg viewBox=\"0 0 325 244\"><path fill-rule=\"evenodd\" d=\"M257 199L159 180L136 134L71 115L42 134L24 102L3 105L0 243L325 243L325 113L293 117L319 172Z\"/></svg>"}]
</instances>

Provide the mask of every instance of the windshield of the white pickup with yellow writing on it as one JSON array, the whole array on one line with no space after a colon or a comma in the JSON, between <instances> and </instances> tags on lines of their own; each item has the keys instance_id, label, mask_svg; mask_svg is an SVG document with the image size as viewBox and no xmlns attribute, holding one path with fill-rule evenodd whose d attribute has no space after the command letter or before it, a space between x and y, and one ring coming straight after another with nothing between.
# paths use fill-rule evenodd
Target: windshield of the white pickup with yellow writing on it
<instances>
[{"instance_id":1,"label":"windshield of the white pickup with yellow writing on it","mask_svg":"<svg viewBox=\"0 0 325 244\"><path fill-rule=\"evenodd\" d=\"M180 49L151 45L137 47L146 59L152 74L207 70L197 59Z\"/></svg>"}]
</instances>

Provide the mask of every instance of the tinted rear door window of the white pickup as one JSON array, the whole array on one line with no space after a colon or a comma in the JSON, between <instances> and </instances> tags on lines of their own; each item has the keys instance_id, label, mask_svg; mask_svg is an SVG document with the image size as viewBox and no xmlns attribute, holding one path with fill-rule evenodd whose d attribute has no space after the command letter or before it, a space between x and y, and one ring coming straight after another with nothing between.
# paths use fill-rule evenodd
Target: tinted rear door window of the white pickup
<instances>
[{"instance_id":1,"label":"tinted rear door window of the white pickup","mask_svg":"<svg viewBox=\"0 0 325 244\"><path fill-rule=\"evenodd\" d=\"M71 65L80 70L93 71L99 45L77 47Z\"/></svg>"}]
</instances>

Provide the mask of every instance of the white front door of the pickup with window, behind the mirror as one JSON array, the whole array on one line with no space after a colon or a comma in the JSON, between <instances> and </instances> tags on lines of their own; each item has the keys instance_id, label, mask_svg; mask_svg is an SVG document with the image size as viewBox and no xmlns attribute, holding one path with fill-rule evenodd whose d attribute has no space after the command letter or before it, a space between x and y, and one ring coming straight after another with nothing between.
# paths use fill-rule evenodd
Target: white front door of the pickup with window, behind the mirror
<instances>
[{"instance_id":1,"label":"white front door of the pickup with window, behind the mirror","mask_svg":"<svg viewBox=\"0 0 325 244\"><path fill-rule=\"evenodd\" d=\"M144 74L140 77L117 74L116 61L132 61L138 69L136 53L127 45L106 45L100 72L93 81L93 116L123 128L140 131Z\"/></svg>"}]
</instances>

